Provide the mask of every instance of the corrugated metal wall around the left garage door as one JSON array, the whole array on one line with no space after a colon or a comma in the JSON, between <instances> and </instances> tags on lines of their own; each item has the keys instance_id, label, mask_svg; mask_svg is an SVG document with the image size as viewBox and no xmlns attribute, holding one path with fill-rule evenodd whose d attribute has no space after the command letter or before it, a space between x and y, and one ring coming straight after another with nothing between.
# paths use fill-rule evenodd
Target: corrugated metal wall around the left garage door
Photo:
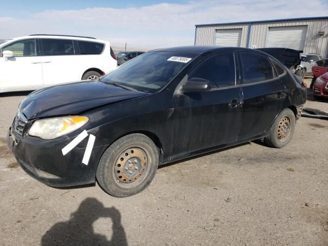
<instances>
[{"instance_id":1,"label":"corrugated metal wall around the left garage door","mask_svg":"<svg viewBox=\"0 0 328 246\"><path fill-rule=\"evenodd\" d=\"M196 45L215 45L215 30L217 29L236 29L242 28L241 47L247 46L248 25L218 25L197 27L196 30Z\"/></svg>"}]
</instances>

